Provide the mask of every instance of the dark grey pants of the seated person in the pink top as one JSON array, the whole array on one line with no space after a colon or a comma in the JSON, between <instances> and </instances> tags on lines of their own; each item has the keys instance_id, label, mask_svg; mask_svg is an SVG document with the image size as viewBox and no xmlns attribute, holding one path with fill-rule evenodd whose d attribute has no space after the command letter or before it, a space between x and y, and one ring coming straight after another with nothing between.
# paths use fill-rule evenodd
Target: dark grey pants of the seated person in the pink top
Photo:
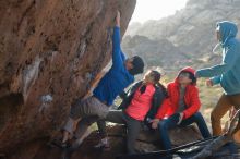
<instances>
[{"instance_id":1,"label":"dark grey pants of the seated person in the pink top","mask_svg":"<svg viewBox=\"0 0 240 159\"><path fill-rule=\"evenodd\" d=\"M110 110L106 117L106 121L124 124L127 126L127 150L128 154L135 154L135 140L139 136L142 122L131 118L125 112L122 112L120 110ZM106 130L104 130L106 129L106 126L101 127L100 125L98 125L98 129L101 132L106 132Z\"/></svg>"}]
</instances>

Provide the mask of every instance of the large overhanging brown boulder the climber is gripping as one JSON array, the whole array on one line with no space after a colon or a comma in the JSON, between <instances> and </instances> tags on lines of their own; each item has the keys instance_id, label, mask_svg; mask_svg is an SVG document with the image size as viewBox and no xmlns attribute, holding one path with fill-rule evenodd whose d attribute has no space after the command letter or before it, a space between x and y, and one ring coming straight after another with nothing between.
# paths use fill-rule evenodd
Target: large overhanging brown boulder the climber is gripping
<instances>
[{"instance_id":1,"label":"large overhanging brown boulder the climber is gripping","mask_svg":"<svg viewBox=\"0 0 240 159\"><path fill-rule=\"evenodd\" d=\"M117 9L124 33L135 0L0 2L0 154L32 151L67 119L111 57ZM32 146L27 145L32 143Z\"/></svg>"}]
</instances>

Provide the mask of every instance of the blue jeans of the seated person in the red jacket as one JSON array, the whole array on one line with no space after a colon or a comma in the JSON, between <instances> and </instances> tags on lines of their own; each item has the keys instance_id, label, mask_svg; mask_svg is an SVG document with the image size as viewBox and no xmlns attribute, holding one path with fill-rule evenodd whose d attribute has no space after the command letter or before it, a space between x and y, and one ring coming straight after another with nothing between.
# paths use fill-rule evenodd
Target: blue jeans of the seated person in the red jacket
<instances>
[{"instance_id":1,"label":"blue jeans of the seated person in the red jacket","mask_svg":"<svg viewBox=\"0 0 240 159\"><path fill-rule=\"evenodd\" d=\"M160 132L160 139L163 140L164 149L171 149L171 142L168 135L168 130L177 127L177 123L179 120L179 114L173 114L166 120L163 120L158 124L158 129ZM179 126L187 126L192 123L196 123L200 132L204 138L211 137L211 133L206 126L206 123L200 112L196 112L192 117L183 120Z\"/></svg>"}]
</instances>

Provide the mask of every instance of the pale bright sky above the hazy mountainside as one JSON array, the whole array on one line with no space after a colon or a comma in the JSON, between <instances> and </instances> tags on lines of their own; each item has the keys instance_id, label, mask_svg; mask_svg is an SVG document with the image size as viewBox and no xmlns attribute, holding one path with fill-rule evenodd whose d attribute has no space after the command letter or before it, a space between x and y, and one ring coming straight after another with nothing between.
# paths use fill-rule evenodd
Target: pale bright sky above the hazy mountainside
<instances>
[{"instance_id":1,"label":"pale bright sky above the hazy mountainside","mask_svg":"<svg viewBox=\"0 0 240 159\"><path fill-rule=\"evenodd\" d=\"M145 22L147 20L159 20L175 14L177 10L184 8L188 0L136 0L136 8L132 22Z\"/></svg>"}]
</instances>

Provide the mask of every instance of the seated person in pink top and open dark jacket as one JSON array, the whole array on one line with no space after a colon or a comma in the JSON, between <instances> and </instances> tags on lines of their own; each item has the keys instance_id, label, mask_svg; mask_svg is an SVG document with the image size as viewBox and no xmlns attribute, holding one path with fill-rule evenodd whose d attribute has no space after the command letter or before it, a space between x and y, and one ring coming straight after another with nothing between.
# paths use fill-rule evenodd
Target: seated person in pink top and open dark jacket
<instances>
[{"instance_id":1,"label":"seated person in pink top and open dark jacket","mask_svg":"<svg viewBox=\"0 0 240 159\"><path fill-rule=\"evenodd\" d=\"M127 151L135 154L135 139L144 121L153 119L158 107L164 101L167 91L159 83L160 73L148 71L144 80L135 83L128 91L120 105L122 110L110 110L106 121L124 124L127 126ZM106 129L106 127L101 127ZM105 132L106 130L100 130ZM107 137L103 138L107 139ZM104 142L103 142L104 143Z\"/></svg>"}]
</instances>

